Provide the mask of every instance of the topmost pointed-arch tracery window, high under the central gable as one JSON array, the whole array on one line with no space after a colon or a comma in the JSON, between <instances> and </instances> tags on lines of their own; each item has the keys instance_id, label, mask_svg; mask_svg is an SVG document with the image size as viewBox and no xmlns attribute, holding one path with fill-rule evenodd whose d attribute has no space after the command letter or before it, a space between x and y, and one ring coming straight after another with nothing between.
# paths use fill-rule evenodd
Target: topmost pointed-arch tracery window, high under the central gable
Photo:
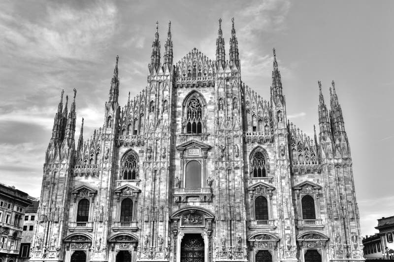
<instances>
[{"instance_id":1,"label":"topmost pointed-arch tracery window, high under the central gable","mask_svg":"<svg viewBox=\"0 0 394 262\"><path fill-rule=\"evenodd\" d=\"M187 104L186 109L186 132L202 133L202 106L198 98L192 98Z\"/></svg>"}]
</instances>

